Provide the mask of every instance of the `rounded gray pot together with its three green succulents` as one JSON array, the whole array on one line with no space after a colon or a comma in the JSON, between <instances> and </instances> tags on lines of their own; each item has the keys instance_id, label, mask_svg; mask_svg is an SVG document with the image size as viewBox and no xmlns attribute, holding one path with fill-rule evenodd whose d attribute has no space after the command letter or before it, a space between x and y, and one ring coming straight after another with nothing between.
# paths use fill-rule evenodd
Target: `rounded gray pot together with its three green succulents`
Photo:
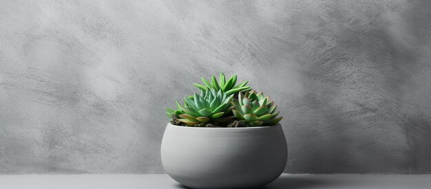
<instances>
[{"instance_id":1,"label":"rounded gray pot together with its three green succulents","mask_svg":"<svg viewBox=\"0 0 431 189\"><path fill-rule=\"evenodd\" d=\"M277 179L287 161L286 139L277 106L237 76L204 85L200 94L166 108L162 164L170 177L189 188L260 187Z\"/></svg>"}]
</instances>

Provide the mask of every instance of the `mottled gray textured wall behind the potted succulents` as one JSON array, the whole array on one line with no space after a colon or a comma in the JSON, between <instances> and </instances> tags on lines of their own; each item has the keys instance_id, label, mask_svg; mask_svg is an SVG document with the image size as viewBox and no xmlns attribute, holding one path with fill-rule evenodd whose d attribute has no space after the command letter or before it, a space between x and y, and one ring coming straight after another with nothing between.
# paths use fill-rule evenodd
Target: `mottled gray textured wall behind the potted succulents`
<instances>
[{"instance_id":1,"label":"mottled gray textured wall behind the potted succulents","mask_svg":"<svg viewBox=\"0 0 431 189\"><path fill-rule=\"evenodd\" d=\"M431 172L430 1L0 1L0 173L162 173L200 77L279 104L286 172Z\"/></svg>"}]
</instances>

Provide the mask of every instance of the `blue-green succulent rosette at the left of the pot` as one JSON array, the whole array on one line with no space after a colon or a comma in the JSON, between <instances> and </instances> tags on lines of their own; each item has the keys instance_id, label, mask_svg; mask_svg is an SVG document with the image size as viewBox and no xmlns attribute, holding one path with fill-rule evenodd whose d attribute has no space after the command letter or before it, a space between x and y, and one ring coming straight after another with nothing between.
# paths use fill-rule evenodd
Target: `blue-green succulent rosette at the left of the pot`
<instances>
[{"instance_id":1,"label":"blue-green succulent rosette at the left of the pot","mask_svg":"<svg viewBox=\"0 0 431 189\"><path fill-rule=\"evenodd\" d=\"M223 123L233 119L233 116L227 116L231 113L233 106L231 102L233 94L227 95L222 90L200 90L200 95L194 94L193 99L185 97L184 106L178 101L177 110L166 108L168 117L178 116L176 119L187 126L196 126L207 122Z\"/></svg>"}]
</instances>

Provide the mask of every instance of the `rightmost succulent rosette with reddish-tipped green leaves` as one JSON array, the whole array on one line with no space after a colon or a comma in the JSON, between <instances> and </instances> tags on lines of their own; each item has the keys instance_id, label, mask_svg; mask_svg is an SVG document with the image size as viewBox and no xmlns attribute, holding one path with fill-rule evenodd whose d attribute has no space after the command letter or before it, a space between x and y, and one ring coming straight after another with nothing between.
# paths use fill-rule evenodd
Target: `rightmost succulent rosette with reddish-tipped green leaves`
<instances>
[{"instance_id":1,"label":"rightmost succulent rosette with reddish-tipped green leaves","mask_svg":"<svg viewBox=\"0 0 431 189\"><path fill-rule=\"evenodd\" d=\"M244 96L244 97L243 97ZM240 121L250 126L273 126L283 117L277 117L276 105L269 101L269 97L264 97L262 92L247 91L245 94L239 92L238 99L232 101L233 115Z\"/></svg>"}]
</instances>

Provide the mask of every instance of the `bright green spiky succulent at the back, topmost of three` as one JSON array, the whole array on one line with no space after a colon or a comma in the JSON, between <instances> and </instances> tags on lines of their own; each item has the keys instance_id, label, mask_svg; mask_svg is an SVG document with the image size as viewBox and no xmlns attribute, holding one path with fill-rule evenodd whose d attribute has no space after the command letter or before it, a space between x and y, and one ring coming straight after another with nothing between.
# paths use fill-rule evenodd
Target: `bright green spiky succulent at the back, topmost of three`
<instances>
[{"instance_id":1,"label":"bright green spiky succulent at the back, topmost of three","mask_svg":"<svg viewBox=\"0 0 431 189\"><path fill-rule=\"evenodd\" d=\"M246 86L246 84L249 81L243 81L242 83L239 83L238 85L235 86L236 79L237 79L237 76L236 74L234 74L231 78L226 80L223 72L221 72L218 81L217 79L215 79L215 76L212 75L211 82L209 82L207 79L202 77L201 80L202 80L202 83L204 83L204 85L200 85L198 83L193 83L193 85L199 88L200 90L211 90L211 89L214 89L215 91L221 90L222 93L226 93L228 96L236 92L251 90L251 87Z\"/></svg>"}]
</instances>

